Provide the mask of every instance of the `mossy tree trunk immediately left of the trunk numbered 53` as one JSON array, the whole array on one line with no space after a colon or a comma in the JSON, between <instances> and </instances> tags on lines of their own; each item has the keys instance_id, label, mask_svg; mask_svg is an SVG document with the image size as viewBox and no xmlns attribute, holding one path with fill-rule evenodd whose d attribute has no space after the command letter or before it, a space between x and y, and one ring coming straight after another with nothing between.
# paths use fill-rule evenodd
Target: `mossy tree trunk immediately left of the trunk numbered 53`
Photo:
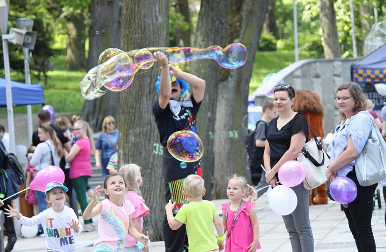
<instances>
[{"instance_id":1,"label":"mossy tree trunk immediately left of the trunk numbered 53","mask_svg":"<svg viewBox=\"0 0 386 252\"><path fill-rule=\"evenodd\" d=\"M205 48L213 44L224 47L226 45L224 41L230 2L230 0L201 0L194 47ZM215 132L214 123L220 70L221 67L211 59L192 61L191 63L191 72L206 82L204 99L197 115L198 135L205 146L201 164L205 180L206 199L211 198L213 181L213 134Z\"/></svg>"}]
</instances>

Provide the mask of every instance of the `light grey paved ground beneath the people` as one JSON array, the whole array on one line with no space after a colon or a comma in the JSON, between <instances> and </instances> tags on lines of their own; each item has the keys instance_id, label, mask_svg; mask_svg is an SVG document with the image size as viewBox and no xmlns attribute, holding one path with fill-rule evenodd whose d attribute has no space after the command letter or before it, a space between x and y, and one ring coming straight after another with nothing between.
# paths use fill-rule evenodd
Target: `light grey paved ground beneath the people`
<instances>
[{"instance_id":1,"label":"light grey paved ground beneath the people","mask_svg":"<svg viewBox=\"0 0 386 252\"><path fill-rule=\"evenodd\" d=\"M386 252L386 228L385 228L385 202L382 196L382 208L375 207L373 211L373 232L378 252ZM256 211L260 226L260 252L290 252L290 240L284 227L283 219L274 213L263 195L256 201ZM214 200L218 210L221 203L228 200ZM310 207L311 226L315 239L316 252L356 252L354 239L348 229L347 220L340 205L329 201L327 205ZM97 222L97 220L96 220ZM76 237L77 251L92 252L93 243L98 238L97 230L89 233L81 233ZM151 240L151 237L150 237ZM6 243L5 243L6 244ZM164 251L163 242L151 242L150 252ZM45 251L45 238L19 238L13 252Z\"/></svg>"}]
</instances>

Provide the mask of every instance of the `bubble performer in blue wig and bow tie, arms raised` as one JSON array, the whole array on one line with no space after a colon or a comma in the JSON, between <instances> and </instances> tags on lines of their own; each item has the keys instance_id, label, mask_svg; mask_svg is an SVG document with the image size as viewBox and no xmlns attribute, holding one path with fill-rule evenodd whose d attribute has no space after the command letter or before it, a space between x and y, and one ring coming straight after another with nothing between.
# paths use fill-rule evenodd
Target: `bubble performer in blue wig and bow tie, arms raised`
<instances>
[{"instance_id":1,"label":"bubble performer in blue wig and bow tie, arms raised","mask_svg":"<svg viewBox=\"0 0 386 252\"><path fill-rule=\"evenodd\" d=\"M202 170L201 161L196 160L196 155L191 155L195 153L197 144L187 144L187 142L193 140L187 137L188 134L181 134L180 132L173 135L173 133L180 130L197 133L195 118L204 98L205 81L168 64L168 58L163 52L155 52L154 57L161 64L161 76L158 77L155 83L159 97L152 104L152 108L159 132L159 140L164 148L163 185L165 186L165 204L169 200L176 202L174 208L174 214L176 214L182 205L188 203L183 192L183 181L190 174L197 174L202 177ZM189 85L193 86L192 95L188 91ZM179 144L174 145L174 141L171 141L168 148L169 137L178 140L177 142L182 140L186 145L180 148ZM174 151L170 152L170 148ZM182 149L188 153L179 152ZM180 160L173 157L173 154L175 156L180 155ZM192 160L194 162L191 162ZM163 219L163 238L165 251L186 251L188 239L186 238L185 225L177 230L172 230L169 227L166 215Z\"/></svg>"}]
</instances>

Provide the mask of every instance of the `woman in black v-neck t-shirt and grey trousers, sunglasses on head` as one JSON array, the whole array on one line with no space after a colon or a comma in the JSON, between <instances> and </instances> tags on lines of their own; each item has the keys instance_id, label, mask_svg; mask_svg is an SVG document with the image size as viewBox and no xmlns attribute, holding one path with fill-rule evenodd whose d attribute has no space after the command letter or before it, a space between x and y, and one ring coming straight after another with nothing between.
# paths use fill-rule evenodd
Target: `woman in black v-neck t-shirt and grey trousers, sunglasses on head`
<instances>
[{"instance_id":1,"label":"woman in black v-neck t-shirt and grey trousers, sunglasses on head","mask_svg":"<svg viewBox=\"0 0 386 252\"><path fill-rule=\"evenodd\" d=\"M269 123L264 150L265 178L273 187L278 185L279 168L294 160L308 140L307 120L303 114L292 110L294 100L295 90L290 85L280 84L274 88L273 104L279 116ZM291 214L282 217L290 235L292 252L313 252L308 190L303 183L291 189L296 193L297 206Z\"/></svg>"}]
</instances>

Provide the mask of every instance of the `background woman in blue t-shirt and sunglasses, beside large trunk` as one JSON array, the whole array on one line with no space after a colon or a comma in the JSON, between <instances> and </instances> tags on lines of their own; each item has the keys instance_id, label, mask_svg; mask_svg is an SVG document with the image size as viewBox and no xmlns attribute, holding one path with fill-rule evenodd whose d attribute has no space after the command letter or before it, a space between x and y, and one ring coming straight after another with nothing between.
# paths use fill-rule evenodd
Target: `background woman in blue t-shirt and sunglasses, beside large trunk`
<instances>
[{"instance_id":1,"label":"background woman in blue t-shirt and sunglasses, beside large trunk","mask_svg":"<svg viewBox=\"0 0 386 252\"><path fill-rule=\"evenodd\" d=\"M108 160L117 152L115 146L118 142L119 131L115 128L115 119L106 116L102 123L102 132L97 138L95 145L95 160L97 169L100 169L102 178L109 174L107 169Z\"/></svg>"}]
</instances>

